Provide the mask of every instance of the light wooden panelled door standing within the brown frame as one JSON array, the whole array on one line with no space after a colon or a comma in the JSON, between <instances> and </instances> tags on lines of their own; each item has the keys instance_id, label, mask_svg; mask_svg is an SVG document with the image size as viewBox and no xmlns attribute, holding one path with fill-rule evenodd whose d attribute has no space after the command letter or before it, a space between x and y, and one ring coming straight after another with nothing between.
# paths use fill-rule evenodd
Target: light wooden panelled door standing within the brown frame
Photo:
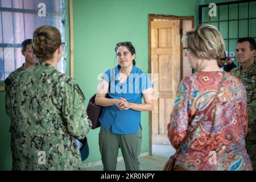
<instances>
[{"instance_id":1,"label":"light wooden panelled door standing within the brown frame","mask_svg":"<svg viewBox=\"0 0 256 182\"><path fill-rule=\"evenodd\" d=\"M180 20L151 21L151 77L158 98L151 113L152 143L170 144L167 123L181 76Z\"/></svg>"}]
</instances>

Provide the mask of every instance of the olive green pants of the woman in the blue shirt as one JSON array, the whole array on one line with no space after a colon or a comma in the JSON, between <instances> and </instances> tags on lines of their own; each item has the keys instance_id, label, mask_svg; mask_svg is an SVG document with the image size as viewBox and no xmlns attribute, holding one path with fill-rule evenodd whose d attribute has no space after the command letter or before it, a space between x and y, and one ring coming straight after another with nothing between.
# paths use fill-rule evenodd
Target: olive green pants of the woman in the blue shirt
<instances>
[{"instance_id":1,"label":"olive green pants of the woman in the blue shirt","mask_svg":"<svg viewBox=\"0 0 256 182\"><path fill-rule=\"evenodd\" d=\"M98 144L104 171L115 171L118 149L121 148L126 171L139 171L138 156L141 153L142 131L130 135L113 134L101 126Z\"/></svg>"}]
</instances>

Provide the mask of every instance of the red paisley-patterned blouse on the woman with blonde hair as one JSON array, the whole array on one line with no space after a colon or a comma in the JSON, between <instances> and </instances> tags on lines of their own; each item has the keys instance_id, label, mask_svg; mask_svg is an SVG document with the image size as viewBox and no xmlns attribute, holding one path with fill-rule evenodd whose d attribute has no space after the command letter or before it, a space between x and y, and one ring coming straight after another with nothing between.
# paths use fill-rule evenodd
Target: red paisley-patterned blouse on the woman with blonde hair
<instances>
[{"instance_id":1,"label":"red paisley-patterned blouse on the woman with blonde hair","mask_svg":"<svg viewBox=\"0 0 256 182\"><path fill-rule=\"evenodd\" d=\"M197 72L180 82L167 126L172 146L179 147L187 132L206 113L222 75L221 71ZM251 170L245 149L246 134L245 86L240 79L226 72L217 104L185 142L175 164L187 170Z\"/></svg>"}]
</instances>

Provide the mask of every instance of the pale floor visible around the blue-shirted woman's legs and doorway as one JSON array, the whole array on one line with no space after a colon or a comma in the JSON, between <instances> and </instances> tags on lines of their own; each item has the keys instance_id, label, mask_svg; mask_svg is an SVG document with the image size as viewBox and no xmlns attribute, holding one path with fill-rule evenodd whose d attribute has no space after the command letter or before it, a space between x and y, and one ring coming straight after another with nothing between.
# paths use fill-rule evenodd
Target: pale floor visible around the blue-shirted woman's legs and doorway
<instances>
[{"instance_id":1,"label":"pale floor visible around the blue-shirted woman's legs and doorway","mask_svg":"<svg viewBox=\"0 0 256 182\"><path fill-rule=\"evenodd\" d=\"M142 171L161 171L168 158L175 153L171 145L152 144L152 155L139 158ZM103 166L94 166L85 168L86 171L102 171ZM117 163L117 171L125 171L125 163L120 161Z\"/></svg>"}]
</instances>

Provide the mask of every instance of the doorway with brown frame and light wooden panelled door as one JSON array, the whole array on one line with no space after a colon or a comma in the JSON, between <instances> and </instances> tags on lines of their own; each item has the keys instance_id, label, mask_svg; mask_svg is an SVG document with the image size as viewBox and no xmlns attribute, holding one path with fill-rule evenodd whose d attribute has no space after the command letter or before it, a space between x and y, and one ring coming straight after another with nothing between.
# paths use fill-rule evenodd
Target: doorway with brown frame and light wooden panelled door
<instances>
[{"instance_id":1,"label":"doorway with brown frame and light wooden panelled door","mask_svg":"<svg viewBox=\"0 0 256 182\"><path fill-rule=\"evenodd\" d=\"M150 154L152 144L170 145L167 124L180 80L192 73L183 57L181 38L194 26L193 16L149 15L149 73L154 84L154 110L150 112ZM155 148L155 147L154 147Z\"/></svg>"}]
</instances>

